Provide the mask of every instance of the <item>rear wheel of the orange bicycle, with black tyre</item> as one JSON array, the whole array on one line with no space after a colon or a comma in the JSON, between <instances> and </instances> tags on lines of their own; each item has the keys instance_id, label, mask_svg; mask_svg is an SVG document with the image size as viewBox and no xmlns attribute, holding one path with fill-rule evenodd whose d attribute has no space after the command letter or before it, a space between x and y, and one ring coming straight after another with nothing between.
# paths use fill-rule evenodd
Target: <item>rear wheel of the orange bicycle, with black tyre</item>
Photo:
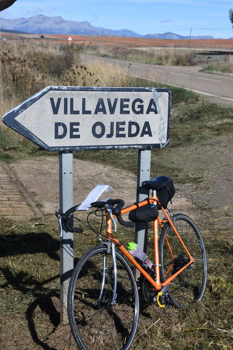
<instances>
[{"instance_id":1,"label":"rear wheel of the orange bicycle, with black tyre","mask_svg":"<svg viewBox=\"0 0 233 350\"><path fill-rule=\"evenodd\" d=\"M207 279L206 253L197 225L184 214L173 215L173 225L195 263L186 267L168 284L170 303L177 309L202 299ZM170 245L169 250L166 237ZM173 256L172 256L173 254ZM160 281L165 282L190 261L169 223L163 226L159 239Z\"/></svg>"}]
</instances>

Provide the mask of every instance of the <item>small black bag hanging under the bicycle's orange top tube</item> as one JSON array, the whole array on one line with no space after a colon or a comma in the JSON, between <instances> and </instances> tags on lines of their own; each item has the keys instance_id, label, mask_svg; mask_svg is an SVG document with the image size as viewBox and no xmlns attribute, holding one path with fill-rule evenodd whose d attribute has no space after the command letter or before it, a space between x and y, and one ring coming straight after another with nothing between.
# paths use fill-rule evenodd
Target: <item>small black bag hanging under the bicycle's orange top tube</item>
<instances>
[{"instance_id":1,"label":"small black bag hanging under the bicycle's orange top tube","mask_svg":"<svg viewBox=\"0 0 233 350\"><path fill-rule=\"evenodd\" d=\"M134 203L137 205L137 203ZM154 204L146 204L143 207L134 209L129 213L132 222L150 222L158 218L158 210Z\"/></svg>"}]
</instances>

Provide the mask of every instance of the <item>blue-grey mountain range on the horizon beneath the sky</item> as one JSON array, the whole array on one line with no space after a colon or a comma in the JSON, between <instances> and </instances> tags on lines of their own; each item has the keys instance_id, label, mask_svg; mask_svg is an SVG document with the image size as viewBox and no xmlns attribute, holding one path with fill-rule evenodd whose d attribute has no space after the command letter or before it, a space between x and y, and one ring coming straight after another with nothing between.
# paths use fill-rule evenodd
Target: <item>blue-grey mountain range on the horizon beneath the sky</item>
<instances>
[{"instance_id":1,"label":"blue-grey mountain range on the horizon beneath the sky","mask_svg":"<svg viewBox=\"0 0 233 350\"><path fill-rule=\"evenodd\" d=\"M44 15L29 18L5 19L0 18L0 28L4 32L24 32L33 34L66 34L66 35L110 35L134 36L155 39L189 39L189 36L178 35L171 32L163 34L154 33L140 35L129 29L112 30L94 27L89 22L66 21L60 16L48 17ZM211 35L191 36L191 39L214 39Z\"/></svg>"}]
</instances>

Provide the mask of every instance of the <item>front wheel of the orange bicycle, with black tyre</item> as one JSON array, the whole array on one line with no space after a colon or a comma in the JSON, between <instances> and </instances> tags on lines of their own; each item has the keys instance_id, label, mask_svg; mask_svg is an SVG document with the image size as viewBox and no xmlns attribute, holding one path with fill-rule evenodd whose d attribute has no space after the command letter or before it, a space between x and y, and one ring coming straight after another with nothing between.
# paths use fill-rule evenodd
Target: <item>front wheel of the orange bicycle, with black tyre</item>
<instances>
[{"instance_id":1,"label":"front wheel of the orange bicycle, with black tyre","mask_svg":"<svg viewBox=\"0 0 233 350\"><path fill-rule=\"evenodd\" d=\"M87 251L74 268L68 290L68 317L79 349L127 350L133 342L139 320L137 283L128 262L118 252L116 260L115 305L113 260L105 245Z\"/></svg>"}]
</instances>

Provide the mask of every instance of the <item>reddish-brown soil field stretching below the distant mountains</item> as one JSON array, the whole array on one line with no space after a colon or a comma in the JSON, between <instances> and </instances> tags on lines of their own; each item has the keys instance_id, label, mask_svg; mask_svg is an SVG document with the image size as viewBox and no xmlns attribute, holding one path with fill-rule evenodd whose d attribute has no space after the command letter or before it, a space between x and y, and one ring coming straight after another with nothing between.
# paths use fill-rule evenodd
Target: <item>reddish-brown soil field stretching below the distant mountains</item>
<instances>
[{"instance_id":1,"label":"reddish-brown soil field stretching below the distant mountains","mask_svg":"<svg viewBox=\"0 0 233 350\"><path fill-rule=\"evenodd\" d=\"M39 40L38 34L12 34L2 33L3 37L7 38L30 38ZM69 35L64 34L44 34L45 40L59 40L59 42L67 42ZM101 35L72 35L73 43L79 45L102 44L107 46L157 46L157 47L188 47L188 40L169 40L169 39L150 39L137 37L123 36L101 36ZM210 40L190 40L189 47L191 48L225 48L233 49L233 39L210 39Z\"/></svg>"}]
</instances>

